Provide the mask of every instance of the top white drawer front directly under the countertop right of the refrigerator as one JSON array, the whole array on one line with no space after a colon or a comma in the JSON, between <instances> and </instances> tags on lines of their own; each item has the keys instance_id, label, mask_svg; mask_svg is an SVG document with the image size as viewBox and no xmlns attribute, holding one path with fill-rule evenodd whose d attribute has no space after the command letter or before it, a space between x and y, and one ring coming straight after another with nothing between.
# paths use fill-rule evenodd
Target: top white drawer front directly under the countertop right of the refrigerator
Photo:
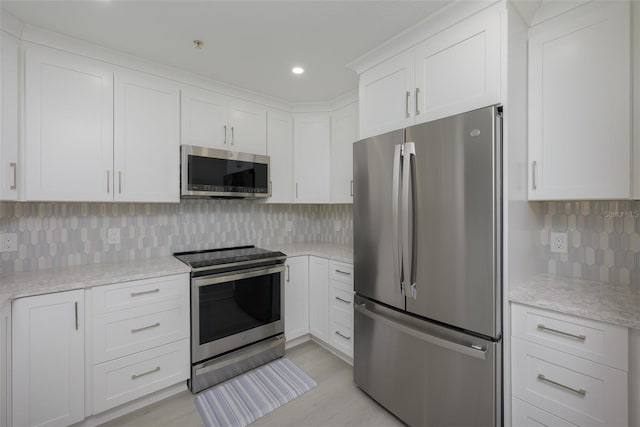
<instances>
[{"instance_id":1,"label":"top white drawer front directly under the countertop right of the refrigerator","mask_svg":"<svg viewBox=\"0 0 640 427\"><path fill-rule=\"evenodd\" d=\"M628 370L627 328L520 304L511 307L513 336Z\"/></svg>"}]
</instances>

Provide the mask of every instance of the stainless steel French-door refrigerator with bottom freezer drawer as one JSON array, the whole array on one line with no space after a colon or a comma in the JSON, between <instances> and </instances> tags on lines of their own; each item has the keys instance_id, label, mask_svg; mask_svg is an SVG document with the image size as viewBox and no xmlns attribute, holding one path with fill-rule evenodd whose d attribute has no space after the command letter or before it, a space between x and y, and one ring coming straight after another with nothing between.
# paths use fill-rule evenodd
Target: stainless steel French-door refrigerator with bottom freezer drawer
<instances>
[{"instance_id":1,"label":"stainless steel French-door refrigerator with bottom freezer drawer","mask_svg":"<svg viewBox=\"0 0 640 427\"><path fill-rule=\"evenodd\" d=\"M355 383L411 426L502 420L501 108L354 144Z\"/></svg>"}]
</instances>

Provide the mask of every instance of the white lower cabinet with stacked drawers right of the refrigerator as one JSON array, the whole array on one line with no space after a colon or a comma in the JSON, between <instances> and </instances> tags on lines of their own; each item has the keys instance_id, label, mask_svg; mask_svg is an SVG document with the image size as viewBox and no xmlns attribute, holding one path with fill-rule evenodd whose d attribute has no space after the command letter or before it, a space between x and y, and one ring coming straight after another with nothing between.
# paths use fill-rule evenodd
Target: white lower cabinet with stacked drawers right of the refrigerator
<instances>
[{"instance_id":1,"label":"white lower cabinet with stacked drawers right of the refrigerator","mask_svg":"<svg viewBox=\"0 0 640 427\"><path fill-rule=\"evenodd\" d=\"M626 328L517 304L512 320L514 426L628 425Z\"/></svg>"}]
</instances>

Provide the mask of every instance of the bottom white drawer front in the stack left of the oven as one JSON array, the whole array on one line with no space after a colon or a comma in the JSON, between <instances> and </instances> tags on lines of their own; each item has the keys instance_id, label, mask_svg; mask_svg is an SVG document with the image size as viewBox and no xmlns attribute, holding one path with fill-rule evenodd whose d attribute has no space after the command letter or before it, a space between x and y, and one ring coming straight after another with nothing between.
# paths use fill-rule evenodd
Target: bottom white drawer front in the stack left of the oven
<instances>
[{"instance_id":1,"label":"bottom white drawer front in the stack left of the oven","mask_svg":"<svg viewBox=\"0 0 640 427\"><path fill-rule=\"evenodd\" d=\"M93 367L93 413L130 402L189 377L189 340Z\"/></svg>"}]
</instances>

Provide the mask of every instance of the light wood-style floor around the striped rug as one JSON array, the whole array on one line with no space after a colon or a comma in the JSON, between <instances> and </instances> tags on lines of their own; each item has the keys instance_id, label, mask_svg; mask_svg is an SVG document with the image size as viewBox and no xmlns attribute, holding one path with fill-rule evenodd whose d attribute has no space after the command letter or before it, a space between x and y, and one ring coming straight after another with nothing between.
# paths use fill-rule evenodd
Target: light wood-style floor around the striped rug
<instances>
[{"instance_id":1,"label":"light wood-style floor around the striped rug","mask_svg":"<svg viewBox=\"0 0 640 427\"><path fill-rule=\"evenodd\" d=\"M353 368L314 342L306 342L285 355L318 385L286 405L255 421L252 426L402 426L403 424L353 384ZM106 426L200 427L202 419L189 392L148 406L105 424Z\"/></svg>"}]
</instances>

